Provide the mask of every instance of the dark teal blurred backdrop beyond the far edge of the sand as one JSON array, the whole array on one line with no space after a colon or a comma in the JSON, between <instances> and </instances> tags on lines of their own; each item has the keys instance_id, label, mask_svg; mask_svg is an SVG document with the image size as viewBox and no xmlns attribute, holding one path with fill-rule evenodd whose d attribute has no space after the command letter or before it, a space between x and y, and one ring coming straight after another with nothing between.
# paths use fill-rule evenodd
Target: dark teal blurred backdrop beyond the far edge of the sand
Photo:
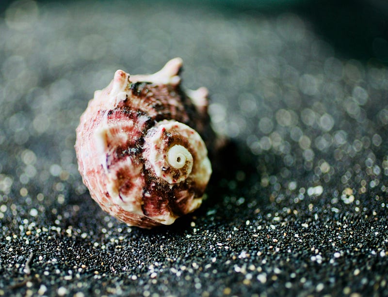
<instances>
[{"instance_id":1,"label":"dark teal blurred backdrop beyond the far edge of the sand","mask_svg":"<svg viewBox=\"0 0 388 297\"><path fill-rule=\"evenodd\" d=\"M0 1L0 13L15 1ZM63 2L38 0L37 2ZM81 1L77 1L81 2ZM83 1L88 5L88 1ZM101 1L104 2L104 1ZM109 1L105 1L109 2ZM133 2L133 6L139 1ZM146 0L142 3L180 3L190 7L246 11L251 14L293 12L304 16L314 29L343 58L388 63L388 1L387 0Z\"/></svg>"}]
</instances>

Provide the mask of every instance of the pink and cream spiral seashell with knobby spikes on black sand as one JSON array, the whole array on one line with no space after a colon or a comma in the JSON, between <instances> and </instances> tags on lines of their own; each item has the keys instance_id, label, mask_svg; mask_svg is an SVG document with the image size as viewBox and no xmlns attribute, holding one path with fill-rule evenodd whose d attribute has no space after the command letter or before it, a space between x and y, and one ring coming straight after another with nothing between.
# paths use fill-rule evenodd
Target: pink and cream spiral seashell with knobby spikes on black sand
<instances>
[{"instance_id":1,"label":"pink and cream spiral seashell with knobby spikes on black sand","mask_svg":"<svg viewBox=\"0 0 388 297\"><path fill-rule=\"evenodd\" d=\"M131 226L168 225L193 212L210 179L208 91L183 92L181 66L175 58L152 75L117 70L81 115L75 149L83 183Z\"/></svg>"}]
</instances>

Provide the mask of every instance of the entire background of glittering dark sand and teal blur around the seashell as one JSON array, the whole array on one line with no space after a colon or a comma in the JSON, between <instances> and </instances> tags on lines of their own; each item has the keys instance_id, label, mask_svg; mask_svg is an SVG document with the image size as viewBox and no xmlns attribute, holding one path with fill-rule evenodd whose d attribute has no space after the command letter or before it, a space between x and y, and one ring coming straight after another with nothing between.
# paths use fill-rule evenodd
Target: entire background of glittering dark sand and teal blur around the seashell
<instances>
[{"instance_id":1,"label":"entire background of glittering dark sand and teal blur around the seashell","mask_svg":"<svg viewBox=\"0 0 388 297\"><path fill-rule=\"evenodd\" d=\"M174 57L234 146L194 216L129 228L75 128ZM1 1L0 296L387 295L387 63L385 0Z\"/></svg>"}]
</instances>

